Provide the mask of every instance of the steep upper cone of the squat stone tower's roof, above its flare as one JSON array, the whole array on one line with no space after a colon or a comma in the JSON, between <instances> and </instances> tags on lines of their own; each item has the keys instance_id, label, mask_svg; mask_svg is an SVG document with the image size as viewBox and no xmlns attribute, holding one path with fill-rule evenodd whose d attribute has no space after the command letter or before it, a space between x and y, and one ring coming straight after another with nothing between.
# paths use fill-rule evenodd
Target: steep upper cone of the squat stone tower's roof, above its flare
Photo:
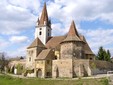
<instances>
[{"instance_id":1,"label":"steep upper cone of the squat stone tower's roof, above its flare","mask_svg":"<svg viewBox=\"0 0 113 85\"><path fill-rule=\"evenodd\" d=\"M77 32L74 21L71 22L71 26L70 26L70 29L69 29L67 36L78 36L79 37L79 34Z\"/></svg>"}]
</instances>

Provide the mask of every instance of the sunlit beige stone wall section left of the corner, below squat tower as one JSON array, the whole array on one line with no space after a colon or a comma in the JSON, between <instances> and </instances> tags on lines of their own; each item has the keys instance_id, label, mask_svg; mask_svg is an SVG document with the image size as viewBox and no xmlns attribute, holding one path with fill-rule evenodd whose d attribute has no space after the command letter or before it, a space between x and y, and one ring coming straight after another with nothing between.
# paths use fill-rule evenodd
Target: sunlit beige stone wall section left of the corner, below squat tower
<instances>
[{"instance_id":1,"label":"sunlit beige stone wall section left of the corner, below squat tower","mask_svg":"<svg viewBox=\"0 0 113 85\"><path fill-rule=\"evenodd\" d=\"M73 77L72 59L53 60L52 77Z\"/></svg>"}]
</instances>

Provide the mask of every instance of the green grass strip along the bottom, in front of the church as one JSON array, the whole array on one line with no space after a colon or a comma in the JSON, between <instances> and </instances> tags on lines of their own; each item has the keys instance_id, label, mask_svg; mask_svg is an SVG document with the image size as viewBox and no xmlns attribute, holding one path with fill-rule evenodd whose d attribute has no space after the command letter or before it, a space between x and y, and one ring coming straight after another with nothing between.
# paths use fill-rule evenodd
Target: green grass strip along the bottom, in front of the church
<instances>
[{"instance_id":1,"label":"green grass strip along the bottom, in front of the church","mask_svg":"<svg viewBox=\"0 0 113 85\"><path fill-rule=\"evenodd\" d=\"M0 75L0 85L108 85L106 78L79 80L21 79Z\"/></svg>"}]
</instances>

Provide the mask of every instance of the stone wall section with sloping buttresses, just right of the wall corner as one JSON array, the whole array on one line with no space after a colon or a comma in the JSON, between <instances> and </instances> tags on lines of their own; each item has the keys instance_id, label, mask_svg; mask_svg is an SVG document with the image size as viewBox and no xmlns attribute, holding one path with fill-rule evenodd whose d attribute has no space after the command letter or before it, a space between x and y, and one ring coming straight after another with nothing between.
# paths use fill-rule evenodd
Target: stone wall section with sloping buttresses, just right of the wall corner
<instances>
[{"instance_id":1,"label":"stone wall section with sloping buttresses, just right of the wall corner","mask_svg":"<svg viewBox=\"0 0 113 85\"><path fill-rule=\"evenodd\" d=\"M91 76L88 59L73 60L73 77Z\"/></svg>"}]
</instances>

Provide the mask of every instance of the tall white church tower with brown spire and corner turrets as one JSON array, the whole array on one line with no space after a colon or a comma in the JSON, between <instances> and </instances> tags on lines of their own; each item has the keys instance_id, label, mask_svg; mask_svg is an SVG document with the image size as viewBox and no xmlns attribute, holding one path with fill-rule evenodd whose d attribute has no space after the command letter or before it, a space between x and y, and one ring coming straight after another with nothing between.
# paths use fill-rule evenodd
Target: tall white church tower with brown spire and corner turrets
<instances>
[{"instance_id":1,"label":"tall white church tower with brown spire and corner turrets","mask_svg":"<svg viewBox=\"0 0 113 85\"><path fill-rule=\"evenodd\" d=\"M48 38L51 37L51 20L48 18L46 3L44 4L40 19L37 20L35 29L35 39L38 37L45 45Z\"/></svg>"}]
</instances>

